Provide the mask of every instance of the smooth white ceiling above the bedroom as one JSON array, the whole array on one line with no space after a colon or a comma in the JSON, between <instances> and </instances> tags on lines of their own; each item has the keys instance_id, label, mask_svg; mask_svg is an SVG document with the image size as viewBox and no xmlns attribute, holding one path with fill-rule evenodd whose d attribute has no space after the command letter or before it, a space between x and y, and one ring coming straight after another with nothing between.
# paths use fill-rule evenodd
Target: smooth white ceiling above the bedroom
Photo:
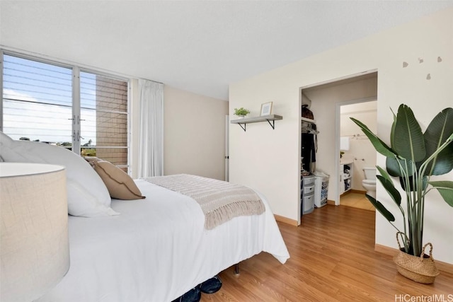
<instances>
[{"instance_id":1,"label":"smooth white ceiling above the bedroom","mask_svg":"<svg viewBox=\"0 0 453 302\"><path fill-rule=\"evenodd\" d=\"M229 83L449 1L0 1L0 45L228 100Z\"/></svg>"}]
</instances>

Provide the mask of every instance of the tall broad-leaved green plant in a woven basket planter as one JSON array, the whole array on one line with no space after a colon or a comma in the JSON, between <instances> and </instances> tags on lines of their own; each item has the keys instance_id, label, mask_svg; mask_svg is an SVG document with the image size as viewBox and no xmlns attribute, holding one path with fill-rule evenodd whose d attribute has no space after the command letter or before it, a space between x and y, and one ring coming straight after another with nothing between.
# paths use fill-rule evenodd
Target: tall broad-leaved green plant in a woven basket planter
<instances>
[{"instance_id":1,"label":"tall broad-leaved green plant in a woven basket planter","mask_svg":"<svg viewBox=\"0 0 453 302\"><path fill-rule=\"evenodd\" d=\"M397 115L394 114L390 146L373 134L365 124L354 118L351 120L367 135L374 149L386 156L386 169L377 166L380 173L377 179L401 211L403 230L395 226L395 216L381 202L369 195L367 199L396 228L400 252L394 257L394 261L398 272L414 281L432 283L439 272L432 261L432 245L423 245L425 200L428 192L436 189L442 199L453 207L453 182L430 180L432 175L444 175L453 169L453 108L439 112L423 133L411 108L401 104ZM392 177L398 178L404 191L406 211ZM400 238L403 247L400 245ZM429 256L425 255L427 245L431 248ZM402 262L410 262L408 258L414 262L411 265L403 264Z\"/></svg>"}]
</instances>

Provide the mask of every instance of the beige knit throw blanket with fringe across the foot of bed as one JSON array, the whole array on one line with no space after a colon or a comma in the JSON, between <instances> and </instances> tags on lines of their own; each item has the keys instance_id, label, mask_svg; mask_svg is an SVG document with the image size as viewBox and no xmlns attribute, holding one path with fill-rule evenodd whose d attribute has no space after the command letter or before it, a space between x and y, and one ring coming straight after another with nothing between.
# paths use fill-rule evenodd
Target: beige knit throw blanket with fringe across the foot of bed
<instances>
[{"instance_id":1,"label":"beige knit throw blanket with fringe across the foot of bed","mask_svg":"<svg viewBox=\"0 0 453 302\"><path fill-rule=\"evenodd\" d=\"M144 180L195 199L205 214L207 230L236 216L259 215L265 211L258 194L242 185L187 174L156 176Z\"/></svg>"}]
</instances>

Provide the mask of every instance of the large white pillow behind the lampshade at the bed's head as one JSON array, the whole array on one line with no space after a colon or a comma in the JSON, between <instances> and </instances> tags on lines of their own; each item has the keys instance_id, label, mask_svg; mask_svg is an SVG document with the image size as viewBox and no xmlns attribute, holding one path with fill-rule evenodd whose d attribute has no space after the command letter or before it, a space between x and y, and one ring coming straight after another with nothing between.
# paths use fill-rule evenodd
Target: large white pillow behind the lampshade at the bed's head
<instances>
[{"instance_id":1,"label":"large white pillow behind the lampshade at the bed's head","mask_svg":"<svg viewBox=\"0 0 453 302\"><path fill-rule=\"evenodd\" d=\"M107 187L84 158L59 146L36 141L14 141L0 132L0 156L6 162L64 165L67 175L68 213L73 216L109 216Z\"/></svg>"}]
</instances>

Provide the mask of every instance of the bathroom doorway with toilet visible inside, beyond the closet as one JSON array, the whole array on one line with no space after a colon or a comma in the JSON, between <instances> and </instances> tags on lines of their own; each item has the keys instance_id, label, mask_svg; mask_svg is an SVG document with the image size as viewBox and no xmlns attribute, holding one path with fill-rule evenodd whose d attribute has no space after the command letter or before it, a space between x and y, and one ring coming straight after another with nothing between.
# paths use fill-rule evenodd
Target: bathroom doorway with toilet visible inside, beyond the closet
<instances>
[{"instance_id":1,"label":"bathroom doorway with toilet visible inside, beyond the closet","mask_svg":"<svg viewBox=\"0 0 453 302\"><path fill-rule=\"evenodd\" d=\"M366 189L362 182L365 179L364 168L375 167L377 153L369 139L350 118L353 117L364 122L372 132L376 132L377 100L367 98L338 105L340 107L338 119L340 122L339 204L375 211L365 197ZM367 187L369 190L373 190L373 187L369 187L369 185Z\"/></svg>"}]
</instances>

